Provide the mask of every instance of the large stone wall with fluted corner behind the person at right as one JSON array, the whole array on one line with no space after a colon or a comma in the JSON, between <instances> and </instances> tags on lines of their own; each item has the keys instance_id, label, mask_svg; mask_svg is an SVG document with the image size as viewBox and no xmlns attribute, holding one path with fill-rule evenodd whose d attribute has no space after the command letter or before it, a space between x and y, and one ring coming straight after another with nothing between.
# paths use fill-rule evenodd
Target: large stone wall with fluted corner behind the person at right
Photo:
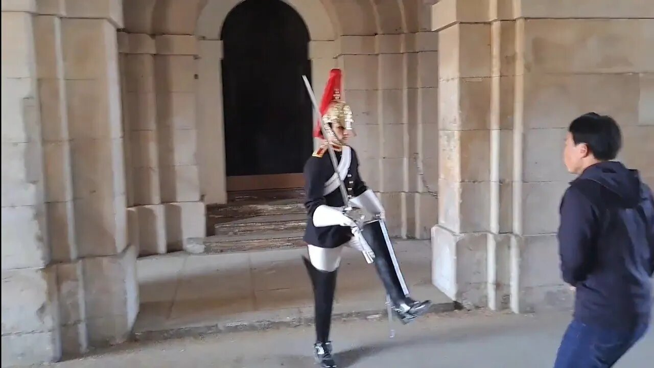
<instances>
[{"instance_id":1,"label":"large stone wall with fluted corner behind the person at right","mask_svg":"<svg viewBox=\"0 0 654 368\"><path fill-rule=\"evenodd\" d=\"M652 183L654 7L442 0L432 11L439 48L453 50L439 58L434 284L472 306L570 306L555 236L573 178L566 128L588 111L612 115L619 158Z\"/></svg>"}]
</instances>

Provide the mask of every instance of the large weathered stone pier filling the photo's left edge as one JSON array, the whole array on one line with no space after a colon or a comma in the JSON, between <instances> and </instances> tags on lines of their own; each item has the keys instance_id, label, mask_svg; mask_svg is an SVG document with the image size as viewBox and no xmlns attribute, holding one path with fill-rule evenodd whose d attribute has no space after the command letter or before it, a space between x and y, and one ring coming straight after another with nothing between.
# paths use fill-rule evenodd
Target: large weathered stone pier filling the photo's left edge
<instances>
[{"instance_id":1,"label":"large weathered stone pier filling the photo's left edge","mask_svg":"<svg viewBox=\"0 0 654 368\"><path fill-rule=\"evenodd\" d=\"M124 341L128 242L116 28L122 2L3 1L2 364Z\"/></svg>"}]
</instances>

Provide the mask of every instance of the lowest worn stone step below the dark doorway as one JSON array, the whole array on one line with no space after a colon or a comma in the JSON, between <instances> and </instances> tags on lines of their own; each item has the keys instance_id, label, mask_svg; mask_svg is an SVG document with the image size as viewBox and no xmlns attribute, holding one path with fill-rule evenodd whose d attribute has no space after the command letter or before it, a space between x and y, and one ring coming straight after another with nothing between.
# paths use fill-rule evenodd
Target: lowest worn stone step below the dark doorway
<instances>
[{"instance_id":1,"label":"lowest worn stone step below the dark doorway","mask_svg":"<svg viewBox=\"0 0 654 368\"><path fill-rule=\"evenodd\" d=\"M305 246L303 235L303 231L273 231L190 238L184 242L184 250L196 254L215 254L301 248Z\"/></svg>"}]
</instances>

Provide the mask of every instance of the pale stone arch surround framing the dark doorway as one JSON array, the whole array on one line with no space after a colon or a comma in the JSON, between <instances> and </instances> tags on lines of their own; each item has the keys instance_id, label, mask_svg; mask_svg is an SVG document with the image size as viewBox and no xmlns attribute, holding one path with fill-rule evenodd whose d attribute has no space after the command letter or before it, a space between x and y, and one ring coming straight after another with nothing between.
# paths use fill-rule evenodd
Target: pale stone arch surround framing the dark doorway
<instances>
[{"instance_id":1,"label":"pale stone arch surround framing the dark doorway","mask_svg":"<svg viewBox=\"0 0 654 368\"><path fill-rule=\"evenodd\" d=\"M320 94L329 69L336 67L335 26L320 0L284 0L301 17L309 31L309 60L314 92ZM221 60L224 45L220 33L228 14L241 0L209 0L196 27L198 44L198 162L205 204L227 200L227 168L224 145L223 81Z\"/></svg>"}]
</instances>

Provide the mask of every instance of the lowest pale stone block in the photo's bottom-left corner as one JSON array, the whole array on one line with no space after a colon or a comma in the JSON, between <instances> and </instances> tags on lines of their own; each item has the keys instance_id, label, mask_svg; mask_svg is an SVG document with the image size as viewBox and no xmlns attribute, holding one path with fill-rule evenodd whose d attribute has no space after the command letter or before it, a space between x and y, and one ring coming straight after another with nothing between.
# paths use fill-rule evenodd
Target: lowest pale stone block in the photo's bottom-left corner
<instances>
[{"instance_id":1,"label":"lowest pale stone block in the photo's bottom-left corner","mask_svg":"<svg viewBox=\"0 0 654 368\"><path fill-rule=\"evenodd\" d=\"M2 336L2 367L54 363L61 358L58 331Z\"/></svg>"}]
</instances>

